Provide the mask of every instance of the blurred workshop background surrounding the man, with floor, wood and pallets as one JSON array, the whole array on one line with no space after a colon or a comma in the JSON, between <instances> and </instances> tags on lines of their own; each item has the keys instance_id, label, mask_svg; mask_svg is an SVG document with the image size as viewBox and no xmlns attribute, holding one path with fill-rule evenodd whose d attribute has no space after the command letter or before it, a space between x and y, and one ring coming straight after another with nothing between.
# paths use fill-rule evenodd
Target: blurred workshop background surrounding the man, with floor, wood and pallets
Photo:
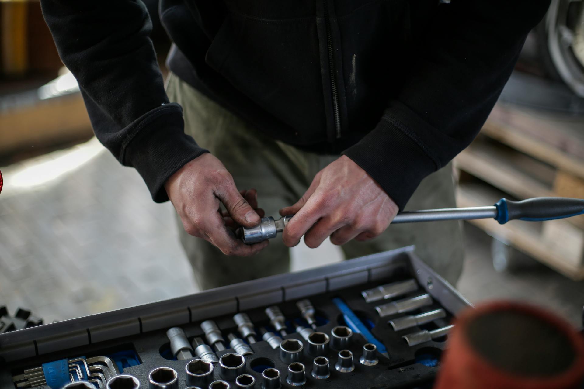
<instances>
[{"instance_id":1,"label":"blurred workshop background surrounding the man, with floor, wood and pallets","mask_svg":"<svg viewBox=\"0 0 584 389\"><path fill-rule=\"evenodd\" d=\"M144 2L165 72L157 1ZM38 1L0 0L0 50L0 307L49 323L196 292L172 205L152 202L138 173L93 137ZM552 1L481 134L455 162L459 206L584 198L584 1ZM474 220L465 232L456 287L472 303L524 300L582 324L584 216ZM293 249L295 270L340 260L329 242Z\"/></svg>"}]
</instances>

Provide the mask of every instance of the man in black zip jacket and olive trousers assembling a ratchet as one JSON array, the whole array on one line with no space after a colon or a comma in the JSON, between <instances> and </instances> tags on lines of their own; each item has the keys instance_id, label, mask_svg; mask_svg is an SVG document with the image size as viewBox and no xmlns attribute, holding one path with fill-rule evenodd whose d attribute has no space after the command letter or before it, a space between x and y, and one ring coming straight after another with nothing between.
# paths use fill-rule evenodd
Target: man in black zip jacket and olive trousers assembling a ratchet
<instances>
[{"instance_id":1,"label":"man in black zip jacket and olive trousers assembling a ratchet","mask_svg":"<svg viewBox=\"0 0 584 389\"><path fill-rule=\"evenodd\" d=\"M330 236L351 257L416 243L456 281L457 223L386 229L412 194L453 205L449 175L424 178L472 141L548 5L161 0L169 100L140 0L41 0L98 139L201 238L182 236L203 288L287 269L284 246L245 246L228 228L263 215L252 184L270 213L300 197L280 209L296 214L287 247Z\"/></svg>"}]
</instances>

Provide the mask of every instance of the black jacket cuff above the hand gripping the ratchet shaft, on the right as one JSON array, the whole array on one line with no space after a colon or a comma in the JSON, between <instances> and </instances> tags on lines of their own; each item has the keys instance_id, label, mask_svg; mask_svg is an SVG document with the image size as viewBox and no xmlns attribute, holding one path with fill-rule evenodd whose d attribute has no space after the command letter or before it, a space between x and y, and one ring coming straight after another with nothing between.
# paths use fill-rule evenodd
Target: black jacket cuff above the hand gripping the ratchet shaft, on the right
<instances>
[{"instance_id":1,"label":"black jacket cuff above the hand gripping the ratchet shaft, on the right","mask_svg":"<svg viewBox=\"0 0 584 389\"><path fill-rule=\"evenodd\" d=\"M365 170L400 211L420 181L441 167L430 155L429 148L409 129L416 128L411 126L421 119L409 119L399 110L388 108L373 131L342 153Z\"/></svg>"}]
</instances>

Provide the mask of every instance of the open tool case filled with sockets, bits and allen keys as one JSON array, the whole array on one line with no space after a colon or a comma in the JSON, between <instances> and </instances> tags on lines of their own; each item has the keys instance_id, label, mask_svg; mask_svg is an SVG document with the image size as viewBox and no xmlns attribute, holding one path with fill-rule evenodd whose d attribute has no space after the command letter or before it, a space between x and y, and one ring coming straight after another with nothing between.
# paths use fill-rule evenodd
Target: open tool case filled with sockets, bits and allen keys
<instances>
[{"instance_id":1,"label":"open tool case filled with sockets, bits and allen keys","mask_svg":"<svg viewBox=\"0 0 584 389\"><path fill-rule=\"evenodd\" d=\"M0 389L431 387L469 305L403 248L1 334Z\"/></svg>"}]
</instances>

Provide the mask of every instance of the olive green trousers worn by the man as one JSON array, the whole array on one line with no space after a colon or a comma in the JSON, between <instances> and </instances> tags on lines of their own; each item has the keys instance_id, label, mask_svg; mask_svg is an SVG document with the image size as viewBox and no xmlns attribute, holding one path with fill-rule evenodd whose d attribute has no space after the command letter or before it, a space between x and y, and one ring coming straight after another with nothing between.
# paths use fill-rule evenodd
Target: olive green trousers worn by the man
<instances>
[{"instance_id":1,"label":"olive green trousers worn by the man","mask_svg":"<svg viewBox=\"0 0 584 389\"><path fill-rule=\"evenodd\" d=\"M223 162L239 190L258 190L258 204L266 216L292 205L307 190L315 174L339 155L319 155L275 141L170 74L171 101L184 110L185 132ZM422 181L406 209L450 208L454 181L450 164ZM201 289L216 288L289 271L289 248L280 237L253 257L228 257L203 239L187 234L178 218L180 241ZM349 241L341 246L345 257L392 250L415 244L415 253L450 283L462 271L464 247L461 223L427 222L390 225L373 240Z\"/></svg>"}]
</instances>

